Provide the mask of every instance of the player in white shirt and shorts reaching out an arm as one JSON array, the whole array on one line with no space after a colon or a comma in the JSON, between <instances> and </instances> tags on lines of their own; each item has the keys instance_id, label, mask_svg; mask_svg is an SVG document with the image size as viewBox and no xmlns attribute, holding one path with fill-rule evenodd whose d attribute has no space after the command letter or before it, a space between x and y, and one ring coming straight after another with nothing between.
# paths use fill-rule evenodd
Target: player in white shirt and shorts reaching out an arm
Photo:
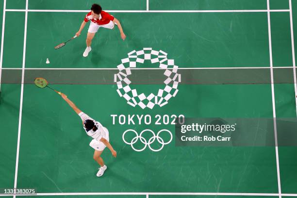
<instances>
[{"instance_id":1,"label":"player in white shirt and shorts reaching out an arm","mask_svg":"<svg viewBox=\"0 0 297 198\"><path fill-rule=\"evenodd\" d=\"M70 99L68 99L65 94L62 94L61 96L82 118L83 129L85 130L87 135L93 138L93 140L90 142L90 146L95 149L94 160L100 165L97 176L101 177L107 168L107 166L104 164L103 159L100 157L104 148L109 148L112 155L116 157L116 151L109 143L109 132L105 127L101 125L100 122L94 120L93 118L83 113L80 109L78 109L77 106Z\"/></svg>"}]
</instances>

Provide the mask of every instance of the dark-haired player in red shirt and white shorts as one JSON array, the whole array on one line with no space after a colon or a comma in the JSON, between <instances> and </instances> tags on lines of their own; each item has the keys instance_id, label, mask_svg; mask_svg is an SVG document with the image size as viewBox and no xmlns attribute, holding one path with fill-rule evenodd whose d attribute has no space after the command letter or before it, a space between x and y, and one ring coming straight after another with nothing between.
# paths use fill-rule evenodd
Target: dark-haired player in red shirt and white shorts
<instances>
[{"instance_id":1,"label":"dark-haired player in red shirt and white shorts","mask_svg":"<svg viewBox=\"0 0 297 198\"><path fill-rule=\"evenodd\" d=\"M91 51L91 43L92 39L94 38L95 34L99 30L100 27L102 28L108 28L113 29L115 25L117 25L121 38L125 40L126 35L123 32L122 26L120 22L112 15L108 14L107 12L104 12L100 5L93 4L91 7L91 12L89 12L82 21L82 25L80 27L80 30L75 34L79 36L82 32L82 29L84 28L85 24L88 21L91 21L90 27L88 29L87 39L86 39L86 49L83 52L83 57L87 57L89 52Z\"/></svg>"}]
</instances>

